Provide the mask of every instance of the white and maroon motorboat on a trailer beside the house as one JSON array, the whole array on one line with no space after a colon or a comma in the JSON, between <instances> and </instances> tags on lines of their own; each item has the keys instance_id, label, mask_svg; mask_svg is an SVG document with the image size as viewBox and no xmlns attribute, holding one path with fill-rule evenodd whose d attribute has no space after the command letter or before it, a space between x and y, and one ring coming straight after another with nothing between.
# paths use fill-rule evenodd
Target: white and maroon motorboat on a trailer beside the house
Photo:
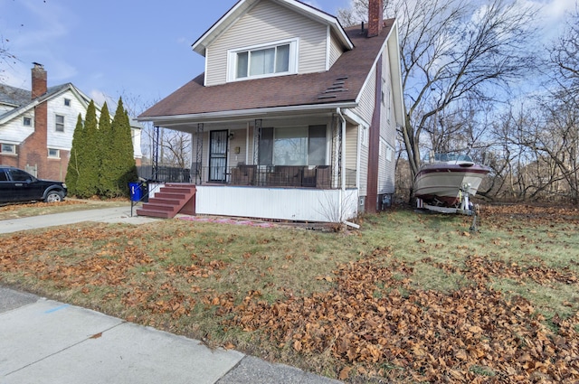
<instances>
[{"instance_id":1,"label":"white and maroon motorboat on a trailer beside the house","mask_svg":"<svg viewBox=\"0 0 579 384\"><path fill-rule=\"evenodd\" d=\"M468 155L435 154L414 178L418 208L471 214L469 196L477 193L490 168L475 164Z\"/></svg>"}]
</instances>

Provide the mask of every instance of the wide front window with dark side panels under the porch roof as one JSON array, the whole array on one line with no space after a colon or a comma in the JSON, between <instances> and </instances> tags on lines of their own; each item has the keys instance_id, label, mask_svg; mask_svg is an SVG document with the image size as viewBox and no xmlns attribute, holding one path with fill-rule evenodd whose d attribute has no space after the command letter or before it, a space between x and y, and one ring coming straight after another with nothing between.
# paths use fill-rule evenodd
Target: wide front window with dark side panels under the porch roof
<instances>
[{"instance_id":1,"label":"wide front window with dark side panels under the porch roof","mask_svg":"<svg viewBox=\"0 0 579 384\"><path fill-rule=\"evenodd\" d=\"M326 126L262 128L260 165L325 165Z\"/></svg>"}]
</instances>

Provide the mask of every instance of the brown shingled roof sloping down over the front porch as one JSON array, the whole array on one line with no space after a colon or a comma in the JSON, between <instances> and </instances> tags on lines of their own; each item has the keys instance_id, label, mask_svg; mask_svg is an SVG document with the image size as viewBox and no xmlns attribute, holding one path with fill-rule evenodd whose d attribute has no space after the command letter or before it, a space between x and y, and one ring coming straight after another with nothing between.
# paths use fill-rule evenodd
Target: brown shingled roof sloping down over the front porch
<instances>
[{"instance_id":1,"label":"brown shingled roof sloping down over the front porch","mask_svg":"<svg viewBox=\"0 0 579 384\"><path fill-rule=\"evenodd\" d=\"M139 118L354 102L393 24L394 19L385 20L382 33L373 38L367 38L360 26L347 28L355 48L343 53L325 72L234 81L211 87L204 87L202 73L148 108Z\"/></svg>"}]
</instances>

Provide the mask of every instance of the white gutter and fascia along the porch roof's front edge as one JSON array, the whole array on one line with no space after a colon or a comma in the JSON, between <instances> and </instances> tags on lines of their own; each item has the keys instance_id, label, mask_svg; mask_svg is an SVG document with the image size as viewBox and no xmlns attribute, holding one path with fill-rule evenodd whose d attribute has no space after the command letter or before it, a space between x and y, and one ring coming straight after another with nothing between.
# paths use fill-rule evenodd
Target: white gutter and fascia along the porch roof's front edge
<instances>
[{"instance_id":1,"label":"white gutter and fascia along the porch roof's front edge","mask_svg":"<svg viewBox=\"0 0 579 384\"><path fill-rule=\"evenodd\" d=\"M137 117L139 122L151 121L156 123L156 126L170 126L182 124L186 120L210 120L222 119L228 117L250 117L250 116L267 116L271 114L291 113L291 112L308 112L321 111L327 109L328 111L336 108L356 108L355 102L343 102L333 104L315 104L310 106L294 106L294 107L275 107L275 108L252 108L244 110L228 110L219 112L207 112L188 115L177 116L156 116L156 117ZM158 124L157 124L158 123Z\"/></svg>"}]
</instances>

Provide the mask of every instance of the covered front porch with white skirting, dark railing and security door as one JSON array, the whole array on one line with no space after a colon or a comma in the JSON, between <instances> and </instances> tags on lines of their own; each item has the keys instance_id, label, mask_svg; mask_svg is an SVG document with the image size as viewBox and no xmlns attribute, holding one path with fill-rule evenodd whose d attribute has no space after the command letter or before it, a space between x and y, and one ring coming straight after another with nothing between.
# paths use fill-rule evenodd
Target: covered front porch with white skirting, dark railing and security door
<instances>
[{"instance_id":1,"label":"covered front porch with white skirting, dark railing and security door","mask_svg":"<svg viewBox=\"0 0 579 384\"><path fill-rule=\"evenodd\" d=\"M197 189L197 214L324 222L356 217L359 126L336 109L202 120L156 121L192 136L189 183Z\"/></svg>"}]
</instances>

